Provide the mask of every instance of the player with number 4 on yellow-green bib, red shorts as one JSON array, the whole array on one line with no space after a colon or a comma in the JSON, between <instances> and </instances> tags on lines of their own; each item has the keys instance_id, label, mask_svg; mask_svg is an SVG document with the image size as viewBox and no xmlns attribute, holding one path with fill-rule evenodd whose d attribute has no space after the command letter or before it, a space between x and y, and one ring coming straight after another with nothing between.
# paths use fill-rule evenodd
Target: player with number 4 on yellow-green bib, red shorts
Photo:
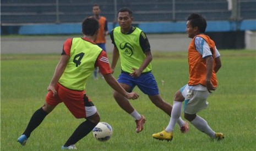
<instances>
[{"instance_id":1,"label":"player with number 4 on yellow-green bib, red shorts","mask_svg":"<svg viewBox=\"0 0 256 151\"><path fill-rule=\"evenodd\" d=\"M99 67L108 85L122 96L127 99L139 97L134 92L124 90L112 76L107 54L95 43L99 22L95 18L86 18L82 23L82 32L84 37L69 38L64 43L61 60L47 88L45 104L32 115L25 131L18 138L21 145L26 144L31 132L41 124L46 115L63 102L75 118L86 119L62 146L62 149L77 149L75 143L88 135L100 121L96 107L85 94L86 81L95 67Z\"/></svg>"}]
</instances>

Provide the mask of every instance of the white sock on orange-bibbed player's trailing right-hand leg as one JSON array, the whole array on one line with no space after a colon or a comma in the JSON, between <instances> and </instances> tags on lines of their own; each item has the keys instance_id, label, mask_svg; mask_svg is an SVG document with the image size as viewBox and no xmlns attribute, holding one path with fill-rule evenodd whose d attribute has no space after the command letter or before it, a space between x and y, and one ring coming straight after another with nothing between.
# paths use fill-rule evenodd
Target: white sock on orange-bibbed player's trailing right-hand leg
<instances>
[{"instance_id":1,"label":"white sock on orange-bibbed player's trailing right-hand leg","mask_svg":"<svg viewBox=\"0 0 256 151\"><path fill-rule=\"evenodd\" d=\"M206 133L208 136L210 137L215 137L215 132L211 129L211 127L208 125L207 121L204 120L203 118L199 117L197 115L197 117L195 117L195 119L193 119L191 121L191 123L201 132Z\"/></svg>"}]
</instances>

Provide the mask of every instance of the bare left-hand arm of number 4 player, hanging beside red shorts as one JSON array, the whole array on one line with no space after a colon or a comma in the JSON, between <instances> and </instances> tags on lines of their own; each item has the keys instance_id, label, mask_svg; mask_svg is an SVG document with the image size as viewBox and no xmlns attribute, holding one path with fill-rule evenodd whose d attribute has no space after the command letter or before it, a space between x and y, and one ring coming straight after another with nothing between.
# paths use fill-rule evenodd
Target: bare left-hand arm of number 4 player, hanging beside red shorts
<instances>
[{"instance_id":1,"label":"bare left-hand arm of number 4 player, hanging beside red shorts","mask_svg":"<svg viewBox=\"0 0 256 151\"><path fill-rule=\"evenodd\" d=\"M55 86L58 83L59 78L63 74L67 64L68 64L69 56L68 55L61 55L61 60L59 60L58 65L55 68L55 73L53 74L52 80L47 88L48 91L53 92L53 96L57 94L55 90Z\"/></svg>"}]
</instances>

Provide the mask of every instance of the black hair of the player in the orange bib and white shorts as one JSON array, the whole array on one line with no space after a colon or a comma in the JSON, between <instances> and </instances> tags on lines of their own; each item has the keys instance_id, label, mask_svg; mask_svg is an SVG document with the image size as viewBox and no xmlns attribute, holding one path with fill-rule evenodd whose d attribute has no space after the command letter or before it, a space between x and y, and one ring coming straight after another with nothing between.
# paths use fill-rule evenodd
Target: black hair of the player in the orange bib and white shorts
<instances>
[{"instance_id":1,"label":"black hair of the player in the orange bib and white shorts","mask_svg":"<svg viewBox=\"0 0 256 151\"><path fill-rule=\"evenodd\" d=\"M203 16L196 13L192 13L188 16L187 20L190 21L190 24L192 25L192 27L198 27L198 30L201 33L205 32L207 23L205 18L203 18Z\"/></svg>"}]
</instances>

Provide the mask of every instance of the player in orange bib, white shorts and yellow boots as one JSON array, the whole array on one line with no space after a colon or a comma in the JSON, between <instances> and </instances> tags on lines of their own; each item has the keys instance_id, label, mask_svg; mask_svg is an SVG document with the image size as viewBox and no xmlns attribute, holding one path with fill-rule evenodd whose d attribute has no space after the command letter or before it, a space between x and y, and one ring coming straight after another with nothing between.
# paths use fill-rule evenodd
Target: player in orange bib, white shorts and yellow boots
<instances>
[{"instance_id":1,"label":"player in orange bib, white shorts and yellow boots","mask_svg":"<svg viewBox=\"0 0 256 151\"><path fill-rule=\"evenodd\" d=\"M208 106L206 99L217 88L216 73L221 67L220 53L215 43L204 34L206 20L199 14L190 14L187 19L189 80L175 94L170 122L164 131L154 133L153 138L171 141L176 121L181 116L184 101L184 117L199 131L211 138L222 140L223 133L215 132L207 121L197 113Z\"/></svg>"}]
</instances>

